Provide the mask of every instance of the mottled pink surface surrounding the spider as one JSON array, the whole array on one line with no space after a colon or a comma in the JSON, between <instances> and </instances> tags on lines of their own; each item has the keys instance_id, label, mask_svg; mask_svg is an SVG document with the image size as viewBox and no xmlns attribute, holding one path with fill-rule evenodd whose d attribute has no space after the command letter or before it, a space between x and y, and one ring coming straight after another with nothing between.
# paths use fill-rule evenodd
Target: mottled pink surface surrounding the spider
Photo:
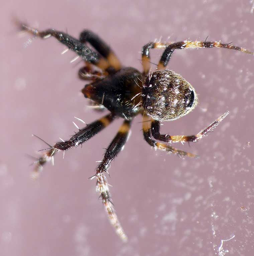
<instances>
[{"instance_id":1,"label":"mottled pink surface surrounding the spider","mask_svg":"<svg viewBox=\"0 0 254 256\"><path fill-rule=\"evenodd\" d=\"M253 2L253 1L252 1ZM104 115L87 107L77 77L82 63L54 39L19 37L12 17L78 37L91 29L122 63L141 69L149 41L222 40L254 50L253 3L241 0L4 1L0 11L1 157L0 255L254 255L254 57L227 49L175 51L169 68L199 94L192 113L164 123L172 135L198 133L230 115L199 143L175 145L200 155L181 160L154 151L142 138L141 117L112 163L109 183L123 244L95 191L94 174L121 120L83 145L55 157L36 182L32 160L49 143L69 138L74 116ZM28 43L31 38L32 43ZM27 45L28 44L28 45ZM157 62L160 50L153 50ZM154 65L153 68L156 66ZM249 143L248 143L249 142ZM39 154L38 154L39 155ZM232 238L234 236L234 238ZM230 241L223 242L222 240ZM229 252L228 252L228 251Z\"/></svg>"}]
</instances>

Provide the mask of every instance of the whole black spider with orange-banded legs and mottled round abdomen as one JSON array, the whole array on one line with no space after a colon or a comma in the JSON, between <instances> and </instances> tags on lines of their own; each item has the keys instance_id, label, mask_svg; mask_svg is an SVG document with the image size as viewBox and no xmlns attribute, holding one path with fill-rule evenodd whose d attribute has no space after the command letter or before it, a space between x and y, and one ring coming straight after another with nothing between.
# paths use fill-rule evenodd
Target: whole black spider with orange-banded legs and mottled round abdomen
<instances>
[{"instance_id":1,"label":"whole black spider with orange-banded legs and mottled round abdomen","mask_svg":"<svg viewBox=\"0 0 254 256\"><path fill-rule=\"evenodd\" d=\"M183 158L185 156L197 156L175 149L171 146L171 143L197 142L212 132L229 114L229 111L226 111L196 135L170 136L169 134L160 133L161 121L180 118L192 111L198 103L198 97L193 86L183 79L181 75L166 69L174 50L219 47L234 49L252 55L254 53L231 44L206 40L180 41L170 44L150 42L142 48L143 72L140 72L133 67L123 67L110 47L92 31L84 30L78 40L67 33L54 29L39 31L24 23L19 23L19 28L41 38L54 37L70 50L76 52L85 62L85 66L79 70L80 79L92 81L85 85L82 93L85 98L91 99L96 105L103 106L110 111L109 114L87 124L83 129L79 129L79 132L69 140L58 141L53 146L48 144L49 148L35 161L33 176L37 177L43 165L53 160L57 152L65 152L83 144L107 127L114 119L123 118L123 123L118 133L106 149L96 169L96 174L91 178L95 178L97 181L97 191L100 193L108 218L116 233L123 241L127 241L127 236L119 223L111 202L105 174L108 173L111 161L127 141L133 118L138 114L143 115L143 135L150 146ZM95 50L87 46L86 43L93 46ZM158 48L163 48L164 51L157 65L157 70L152 72L149 51L150 49Z\"/></svg>"}]
</instances>

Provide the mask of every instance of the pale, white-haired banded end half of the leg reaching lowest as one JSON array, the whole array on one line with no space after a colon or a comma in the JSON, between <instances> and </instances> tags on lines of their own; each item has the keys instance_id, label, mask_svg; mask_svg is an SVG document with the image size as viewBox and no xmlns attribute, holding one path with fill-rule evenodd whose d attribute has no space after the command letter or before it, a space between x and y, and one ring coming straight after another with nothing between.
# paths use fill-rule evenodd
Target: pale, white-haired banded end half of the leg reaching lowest
<instances>
[{"instance_id":1,"label":"pale, white-haired banded end half of the leg reaching lowest","mask_svg":"<svg viewBox=\"0 0 254 256\"><path fill-rule=\"evenodd\" d=\"M113 203L110 201L110 193L106 176L103 173L97 173L97 188L96 191L100 192L101 199L104 204L105 210L108 214L111 225L115 228L117 235L122 239L123 242L127 242L128 238L123 231L123 228L117 218Z\"/></svg>"}]
</instances>

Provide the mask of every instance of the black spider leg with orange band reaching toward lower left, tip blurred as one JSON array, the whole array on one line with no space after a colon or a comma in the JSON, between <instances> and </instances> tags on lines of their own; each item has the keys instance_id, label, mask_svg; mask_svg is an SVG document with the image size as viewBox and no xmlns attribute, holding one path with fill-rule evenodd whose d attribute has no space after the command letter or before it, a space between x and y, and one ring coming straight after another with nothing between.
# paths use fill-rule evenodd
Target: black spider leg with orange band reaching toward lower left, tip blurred
<instances>
[{"instance_id":1,"label":"black spider leg with orange band reaching toward lower left, tip blurred","mask_svg":"<svg viewBox=\"0 0 254 256\"><path fill-rule=\"evenodd\" d=\"M90 138L92 138L94 135L98 134L102 129L107 127L113 120L115 116L112 114L108 114L90 124L88 124L83 129L79 130L76 134L74 134L70 140L66 141L59 141L56 142L52 147L48 148L47 151L38 158L34 163L35 167L32 173L32 178L37 178L39 175L39 171L42 170L43 165L53 160L54 155L58 151L65 152L66 150L69 150L73 147L77 147L81 145L82 143L88 141Z\"/></svg>"}]
</instances>

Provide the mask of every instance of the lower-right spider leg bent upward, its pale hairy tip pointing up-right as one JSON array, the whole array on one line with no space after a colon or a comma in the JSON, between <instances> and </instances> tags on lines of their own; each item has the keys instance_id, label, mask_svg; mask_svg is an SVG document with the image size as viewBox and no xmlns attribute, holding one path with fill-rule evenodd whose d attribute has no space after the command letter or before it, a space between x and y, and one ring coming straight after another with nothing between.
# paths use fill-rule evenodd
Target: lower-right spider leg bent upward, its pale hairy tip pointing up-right
<instances>
[{"instance_id":1,"label":"lower-right spider leg bent upward, its pale hairy tip pointing up-right","mask_svg":"<svg viewBox=\"0 0 254 256\"><path fill-rule=\"evenodd\" d=\"M168 134L160 134L160 122L157 120L152 119L152 136L155 140L163 141L163 142L197 142L201 140L204 136L208 135L210 132L212 132L216 126L229 114L229 111L226 111L223 115L221 115L219 118L217 118L214 122L212 122L208 127L206 127L204 130L199 132L197 135L176 135L176 136L170 136Z\"/></svg>"}]
</instances>

